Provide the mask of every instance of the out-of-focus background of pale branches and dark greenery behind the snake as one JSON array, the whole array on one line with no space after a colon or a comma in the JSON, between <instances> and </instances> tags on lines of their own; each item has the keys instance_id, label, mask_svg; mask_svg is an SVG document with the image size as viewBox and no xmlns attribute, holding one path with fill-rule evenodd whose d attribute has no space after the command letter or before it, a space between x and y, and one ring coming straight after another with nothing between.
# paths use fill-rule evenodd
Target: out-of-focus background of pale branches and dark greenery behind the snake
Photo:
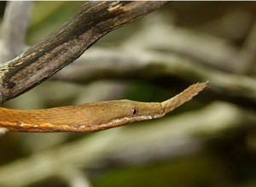
<instances>
[{"instance_id":1,"label":"out-of-focus background of pale branches and dark greenery behind the snake","mask_svg":"<svg viewBox=\"0 0 256 187\"><path fill-rule=\"evenodd\" d=\"M8 4L0 2L2 41ZM82 4L28 3L22 50ZM159 120L97 133L2 135L0 186L256 186L255 10L254 2L169 3L108 33L54 77L5 102L41 109L163 101L209 81ZM2 51L0 61L15 56Z\"/></svg>"}]
</instances>

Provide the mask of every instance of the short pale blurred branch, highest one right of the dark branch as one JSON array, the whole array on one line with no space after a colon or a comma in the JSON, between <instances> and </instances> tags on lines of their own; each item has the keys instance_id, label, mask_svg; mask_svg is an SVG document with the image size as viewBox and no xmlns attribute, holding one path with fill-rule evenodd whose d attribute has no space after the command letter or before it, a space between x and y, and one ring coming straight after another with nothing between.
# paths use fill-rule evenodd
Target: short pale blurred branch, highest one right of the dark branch
<instances>
[{"instance_id":1,"label":"short pale blurred branch, highest one right of the dark branch","mask_svg":"<svg viewBox=\"0 0 256 187\"><path fill-rule=\"evenodd\" d=\"M233 72L239 68L234 62L238 48L224 38L166 24L162 16L155 14L154 17L148 16L145 25L137 31L136 35L124 42L124 48L131 50L136 46L137 48L180 54L197 63L212 66L221 71Z\"/></svg>"}]
</instances>

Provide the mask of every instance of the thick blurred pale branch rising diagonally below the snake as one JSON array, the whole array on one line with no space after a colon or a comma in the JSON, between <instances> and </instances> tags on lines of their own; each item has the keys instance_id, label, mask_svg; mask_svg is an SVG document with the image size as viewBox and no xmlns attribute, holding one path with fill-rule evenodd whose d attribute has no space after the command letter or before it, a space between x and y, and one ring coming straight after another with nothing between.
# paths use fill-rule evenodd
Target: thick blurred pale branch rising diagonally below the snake
<instances>
[{"instance_id":1,"label":"thick blurred pale branch rising diagonally below the snake","mask_svg":"<svg viewBox=\"0 0 256 187\"><path fill-rule=\"evenodd\" d=\"M99 168L108 165L108 161L131 164L182 156L201 149L203 141L211 136L216 137L230 128L246 127L246 124L250 127L255 122L253 113L217 102L199 111L166 117L152 125L148 122L147 128L143 125L120 127L95 133L6 164L0 167L0 184L27 186L49 176L61 175L68 168Z\"/></svg>"}]
</instances>

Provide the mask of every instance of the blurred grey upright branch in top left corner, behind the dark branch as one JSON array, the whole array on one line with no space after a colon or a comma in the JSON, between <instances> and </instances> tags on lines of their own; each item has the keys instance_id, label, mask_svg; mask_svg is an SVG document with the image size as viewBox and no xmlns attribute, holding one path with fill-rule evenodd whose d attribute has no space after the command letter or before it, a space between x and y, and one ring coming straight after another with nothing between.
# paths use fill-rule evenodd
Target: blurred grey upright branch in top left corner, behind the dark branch
<instances>
[{"instance_id":1,"label":"blurred grey upright branch in top left corner, behind the dark branch","mask_svg":"<svg viewBox=\"0 0 256 187\"><path fill-rule=\"evenodd\" d=\"M21 54L30 18L32 2L8 2L5 8L0 39L0 63Z\"/></svg>"}]
</instances>

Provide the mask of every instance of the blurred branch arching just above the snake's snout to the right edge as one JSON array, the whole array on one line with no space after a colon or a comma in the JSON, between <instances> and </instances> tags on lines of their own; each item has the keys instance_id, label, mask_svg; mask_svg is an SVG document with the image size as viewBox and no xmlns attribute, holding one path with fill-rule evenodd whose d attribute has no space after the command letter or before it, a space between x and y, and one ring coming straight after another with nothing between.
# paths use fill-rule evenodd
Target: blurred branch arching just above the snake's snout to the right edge
<instances>
[{"instance_id":1,"label":"blurred branch arching just above the snake's snout to the right edge","mask_svg":"<svg viewBox=\"0 0 256 187\"><path fill-rule=\"evenodd\" d=\"M84 83L102 78L152 80L159 77L178 77L187 82L209 81L209 88L215 93L228 96L235 103L247 101L256 106L256 81L251 77L214 70L178 54L161 54L136 47L132 50L94 48L53 78Z\"/></svg>"}]
</instances>

